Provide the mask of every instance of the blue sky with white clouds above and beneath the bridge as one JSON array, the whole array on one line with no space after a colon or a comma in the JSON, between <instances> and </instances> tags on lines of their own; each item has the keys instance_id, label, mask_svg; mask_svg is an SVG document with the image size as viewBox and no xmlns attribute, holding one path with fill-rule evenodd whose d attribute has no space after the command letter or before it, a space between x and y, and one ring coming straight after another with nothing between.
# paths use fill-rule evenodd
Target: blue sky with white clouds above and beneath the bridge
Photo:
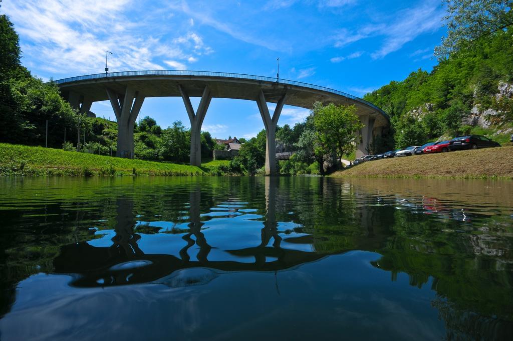
<instances>
[{"instance_id":1,"label":"blue sky with white clouds above and beneath the bridge","mask_svg":"<svg viewBox=\"0 0 513 341\"><path fill-rule=\"evenodd\" d=\"M205 70L275 77L363 96L436 64L445 33L441 0L4 0L20 36L22 63L43 80L111 72ZM199 99L192 100L198 105ZM272 108L272 105L270 105ZM114 119L108 102L92 111ZM181 98L148 98L142 116L189 126ZM308 110L285 107L279 125ZM213 99L203 124L212 136L255 136L255 102Z\"/></svg>"}]
</instances>

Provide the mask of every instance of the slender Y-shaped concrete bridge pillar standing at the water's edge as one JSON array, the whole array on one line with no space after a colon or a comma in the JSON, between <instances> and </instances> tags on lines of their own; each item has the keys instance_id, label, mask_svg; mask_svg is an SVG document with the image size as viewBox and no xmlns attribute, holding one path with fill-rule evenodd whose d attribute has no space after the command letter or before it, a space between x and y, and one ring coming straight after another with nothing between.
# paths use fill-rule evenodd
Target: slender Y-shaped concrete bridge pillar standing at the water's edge
<instances>
[{"instance_id":1,"label":"slender Y-shaped concrete bridge pillar standing at the water's edge","mask_svg":"<svg viewBox=\"0 0 513 341\"><path fill-rule=\"evenodd\" d=\"M267 102L265 101L264 92L260 90L259 96L257 97L257 105L260 111L260 115L262 116L262 120L264 121L266 132L265 175L276 174L276 126L278 124L278 119L280 118L280 113L282 112L283 103L285 103L286 96L287 93L285 92L285 94L276 104L272 118L269 113Z\"/></svg>"}]
</instances>

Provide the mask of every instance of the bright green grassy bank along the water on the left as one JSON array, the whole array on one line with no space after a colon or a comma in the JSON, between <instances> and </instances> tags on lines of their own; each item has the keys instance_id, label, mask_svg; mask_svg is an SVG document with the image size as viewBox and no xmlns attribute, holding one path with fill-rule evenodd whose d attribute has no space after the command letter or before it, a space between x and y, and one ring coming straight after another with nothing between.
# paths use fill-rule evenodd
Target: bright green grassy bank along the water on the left
<instances>
[{"instance_id":1,"label":"bright green grassy bank along the water on the left","mask_svg":"<svg viewBox=\"0 0 513 341\"><path fill-rule=\"evenodd\" d=\"M0 176L194 176L217 174L222 162L196 167L0 143Z\"/></svg>"}]
</instances>

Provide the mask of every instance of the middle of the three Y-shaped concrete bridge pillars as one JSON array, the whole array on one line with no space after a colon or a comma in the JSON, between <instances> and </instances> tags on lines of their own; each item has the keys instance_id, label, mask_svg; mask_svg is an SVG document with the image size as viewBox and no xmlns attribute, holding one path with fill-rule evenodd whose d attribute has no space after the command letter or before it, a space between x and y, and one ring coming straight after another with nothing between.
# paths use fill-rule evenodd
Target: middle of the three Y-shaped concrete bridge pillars
<instances>
[{"instance_id":1,"label":"middle of the three Y-shaped concrete bridge pillars","mask_svg":"<svg viewBox=\"0 0 513 341\"><path fill-rule=\"evenodd\" d=\"M208 86L205 86L198 110L194 113L190 98L185 92L185 89L181 85L179 85L178 88L180 89L180 94L182 95L185 109L187 110L187 115L191 123L190 164L191 166L201 166L201 126L203 125L203 120L205 120L210 101L212 100L212 94Z\"/></svg>"}]
</instances>

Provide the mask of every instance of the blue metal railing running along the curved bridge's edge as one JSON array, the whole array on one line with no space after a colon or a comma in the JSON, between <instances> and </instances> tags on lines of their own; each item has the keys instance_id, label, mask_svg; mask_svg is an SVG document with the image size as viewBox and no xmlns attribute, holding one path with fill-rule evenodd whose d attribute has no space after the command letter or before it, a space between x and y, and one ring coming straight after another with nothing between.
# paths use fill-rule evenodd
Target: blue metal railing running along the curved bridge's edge
<instances>
[{"instance_id":1,"label":"blue metal railing running along the curved bridge's edge","mask_svg":"<svg viewBox=\"0 0 513 341\"><path fill-rule=\"evenodd\" d=\"M334 94L338 94L340 96L344 96L360 103L366 104L385 115L388 118L386 113L378 108L376 105L362 100L359 97L352 96L352 94L345 93L342 91L330 89L324 86L290 81L286 79L275 79L266 76L257 76L253 74L245 74L245 73L231 73L231 72L215 72L215 71L192 71L192 70L146 70L146 71L122 71L122 72L111 72L111 73L95 73L95 74L87 74L83 76L64 78L60 80L53 81L56 84L64 84L76 81L85 81L85 80L94 80L94 79L104 79L104 78L115 78L115 77L133 77L133 76L144 76L144 75L177 75L177 76L205 76L205 77L220 77L220 78L237 78L237 79L248 79L253 81L264 81L264 82L274 82L280 84L288 84L294 86L302 86L305 88L326 91Z\"/></svg>"}]
</instances>

